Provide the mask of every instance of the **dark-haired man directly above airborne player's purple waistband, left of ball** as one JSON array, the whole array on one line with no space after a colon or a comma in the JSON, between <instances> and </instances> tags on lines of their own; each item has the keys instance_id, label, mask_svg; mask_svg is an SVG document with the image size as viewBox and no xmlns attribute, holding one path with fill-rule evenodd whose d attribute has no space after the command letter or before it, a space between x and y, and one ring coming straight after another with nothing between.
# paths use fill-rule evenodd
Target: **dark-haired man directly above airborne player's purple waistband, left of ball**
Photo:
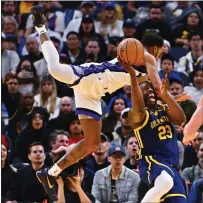
<instances>
[{"instance_id":1,"label":"dark-haired man directly above airborne player's purple waistband, left of ball","mask_svg":"<svg viewBox=\"0 0 203 203\"><path fill-rule=\"evenodd\" d=\"M95 38L90 39L85 47L86 52L86 62L97 62L101 63L104 61L101 53L99 41Z\"/></svg>"}]
</instances>

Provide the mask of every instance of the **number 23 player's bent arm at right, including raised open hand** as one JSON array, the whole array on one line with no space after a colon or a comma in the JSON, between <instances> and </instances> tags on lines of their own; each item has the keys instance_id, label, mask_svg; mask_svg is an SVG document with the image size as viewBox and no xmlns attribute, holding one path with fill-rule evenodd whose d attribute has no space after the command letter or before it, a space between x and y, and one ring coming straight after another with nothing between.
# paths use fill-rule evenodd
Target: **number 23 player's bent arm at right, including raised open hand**
<instances>
[{"instance_id":1,"label":"number 23 player's bent arm at right, including raised open hand","mask_svg":"<svg viewBox=\"0 0 203 203\"><path fill-rule=\"evenodd\" d=\"M173 96L168 91L168 75L162 80L161 99L168 104L167 115L171 122L176 125L182 125L186 122L185 114L180 105L175 101Z\"/></svg>"}]
</instances>

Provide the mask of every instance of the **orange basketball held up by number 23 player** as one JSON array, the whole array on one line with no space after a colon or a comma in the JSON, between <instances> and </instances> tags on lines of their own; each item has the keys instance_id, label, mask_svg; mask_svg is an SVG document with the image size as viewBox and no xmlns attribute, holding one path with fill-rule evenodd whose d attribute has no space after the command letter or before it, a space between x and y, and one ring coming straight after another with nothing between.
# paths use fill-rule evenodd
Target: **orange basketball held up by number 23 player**
<instances>
[{"instance_id":1,"label":"orange basketball held up by number 23 player","mask_svg":"<svg viewBox=\"0 0 203 203\"><path fill-rule=\"evenodd\" d=\"M124 59L126 63L138 65L144 57L144 47L139 40L127 38L118 45L117 56Z\"/></svg>"}]
</instances>

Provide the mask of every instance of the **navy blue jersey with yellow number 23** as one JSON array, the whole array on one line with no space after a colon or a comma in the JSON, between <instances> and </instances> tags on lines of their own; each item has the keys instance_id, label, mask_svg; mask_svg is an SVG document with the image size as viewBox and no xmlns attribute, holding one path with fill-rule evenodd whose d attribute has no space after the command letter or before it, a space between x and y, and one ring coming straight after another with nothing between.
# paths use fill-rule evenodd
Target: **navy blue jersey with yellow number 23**
<instances>
[{"instance_id":1,"label":"navy blue jersey with yellow number 23","mask_svg":"<svg viewBox=\"0 0 203 203\"><path fill-rule=\"evenodd\" d=\"M177 135L166 114L166 108L158 105L156 110L146 108L144 123L134 129L139 144L139 158L156 156L172 165L178 165Z\"/></svg>"}]
</instances>

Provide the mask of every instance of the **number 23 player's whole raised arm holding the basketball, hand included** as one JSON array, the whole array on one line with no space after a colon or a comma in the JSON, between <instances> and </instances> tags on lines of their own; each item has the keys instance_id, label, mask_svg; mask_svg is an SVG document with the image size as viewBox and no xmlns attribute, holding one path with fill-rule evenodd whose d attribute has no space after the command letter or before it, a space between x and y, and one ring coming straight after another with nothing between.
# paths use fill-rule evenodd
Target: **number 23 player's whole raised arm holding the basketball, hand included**
<instances>
[{"instance_id":1,"label":"number 23 player's whole raised arm holding the basketball, hand included","mask_svg":"<svg viewBox=\"0 0 203 203\"><path fill-rule=\"evenodd\" d=\"M129 118L132 127L136 128L142 124L146 116L144 98L137 81L136 71L131 65L126 64L120 58L118 60L122 67L130 74L132 108L129 111Z\"/></svg>"}]
</instances>

